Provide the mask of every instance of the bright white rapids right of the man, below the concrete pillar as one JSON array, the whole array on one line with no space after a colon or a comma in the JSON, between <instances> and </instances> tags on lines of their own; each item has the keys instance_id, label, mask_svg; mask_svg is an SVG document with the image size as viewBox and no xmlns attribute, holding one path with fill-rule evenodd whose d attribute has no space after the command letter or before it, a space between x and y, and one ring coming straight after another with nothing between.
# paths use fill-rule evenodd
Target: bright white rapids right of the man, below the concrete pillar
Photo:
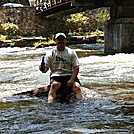
<instances>
[{"instance_id":1,"label":"bright white rapids right of the man, below the concrete pillar","mask_svg":"<svg viewBox=\"0 0 134 134\"><path fill-rule=\"evenodd\" d=\"M81 58L80 64L80 75L92 82L133 82L134 79L134 54L89 56Z\"/></svg>"}]
</instances>

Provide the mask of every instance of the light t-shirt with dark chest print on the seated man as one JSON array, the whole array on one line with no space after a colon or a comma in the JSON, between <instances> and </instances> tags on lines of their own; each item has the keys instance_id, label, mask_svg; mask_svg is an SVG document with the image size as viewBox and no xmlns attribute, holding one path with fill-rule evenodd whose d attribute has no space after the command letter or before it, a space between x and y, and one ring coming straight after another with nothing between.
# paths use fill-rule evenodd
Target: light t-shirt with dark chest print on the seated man
<instances>
[{"instance_id":1,"label":"light t-shirt with dark chest print on the seated man","mask_svg":"<svg viewBox=\"0 0 134 134\"><path fill-rule=\"evenodd\" d=\"M80 65L76 52L68 47L62 52L57 47L52 49L46 55L45 64L50 68L51 77L72 75L73 68Z\"/></svg>"}]
</instances>

